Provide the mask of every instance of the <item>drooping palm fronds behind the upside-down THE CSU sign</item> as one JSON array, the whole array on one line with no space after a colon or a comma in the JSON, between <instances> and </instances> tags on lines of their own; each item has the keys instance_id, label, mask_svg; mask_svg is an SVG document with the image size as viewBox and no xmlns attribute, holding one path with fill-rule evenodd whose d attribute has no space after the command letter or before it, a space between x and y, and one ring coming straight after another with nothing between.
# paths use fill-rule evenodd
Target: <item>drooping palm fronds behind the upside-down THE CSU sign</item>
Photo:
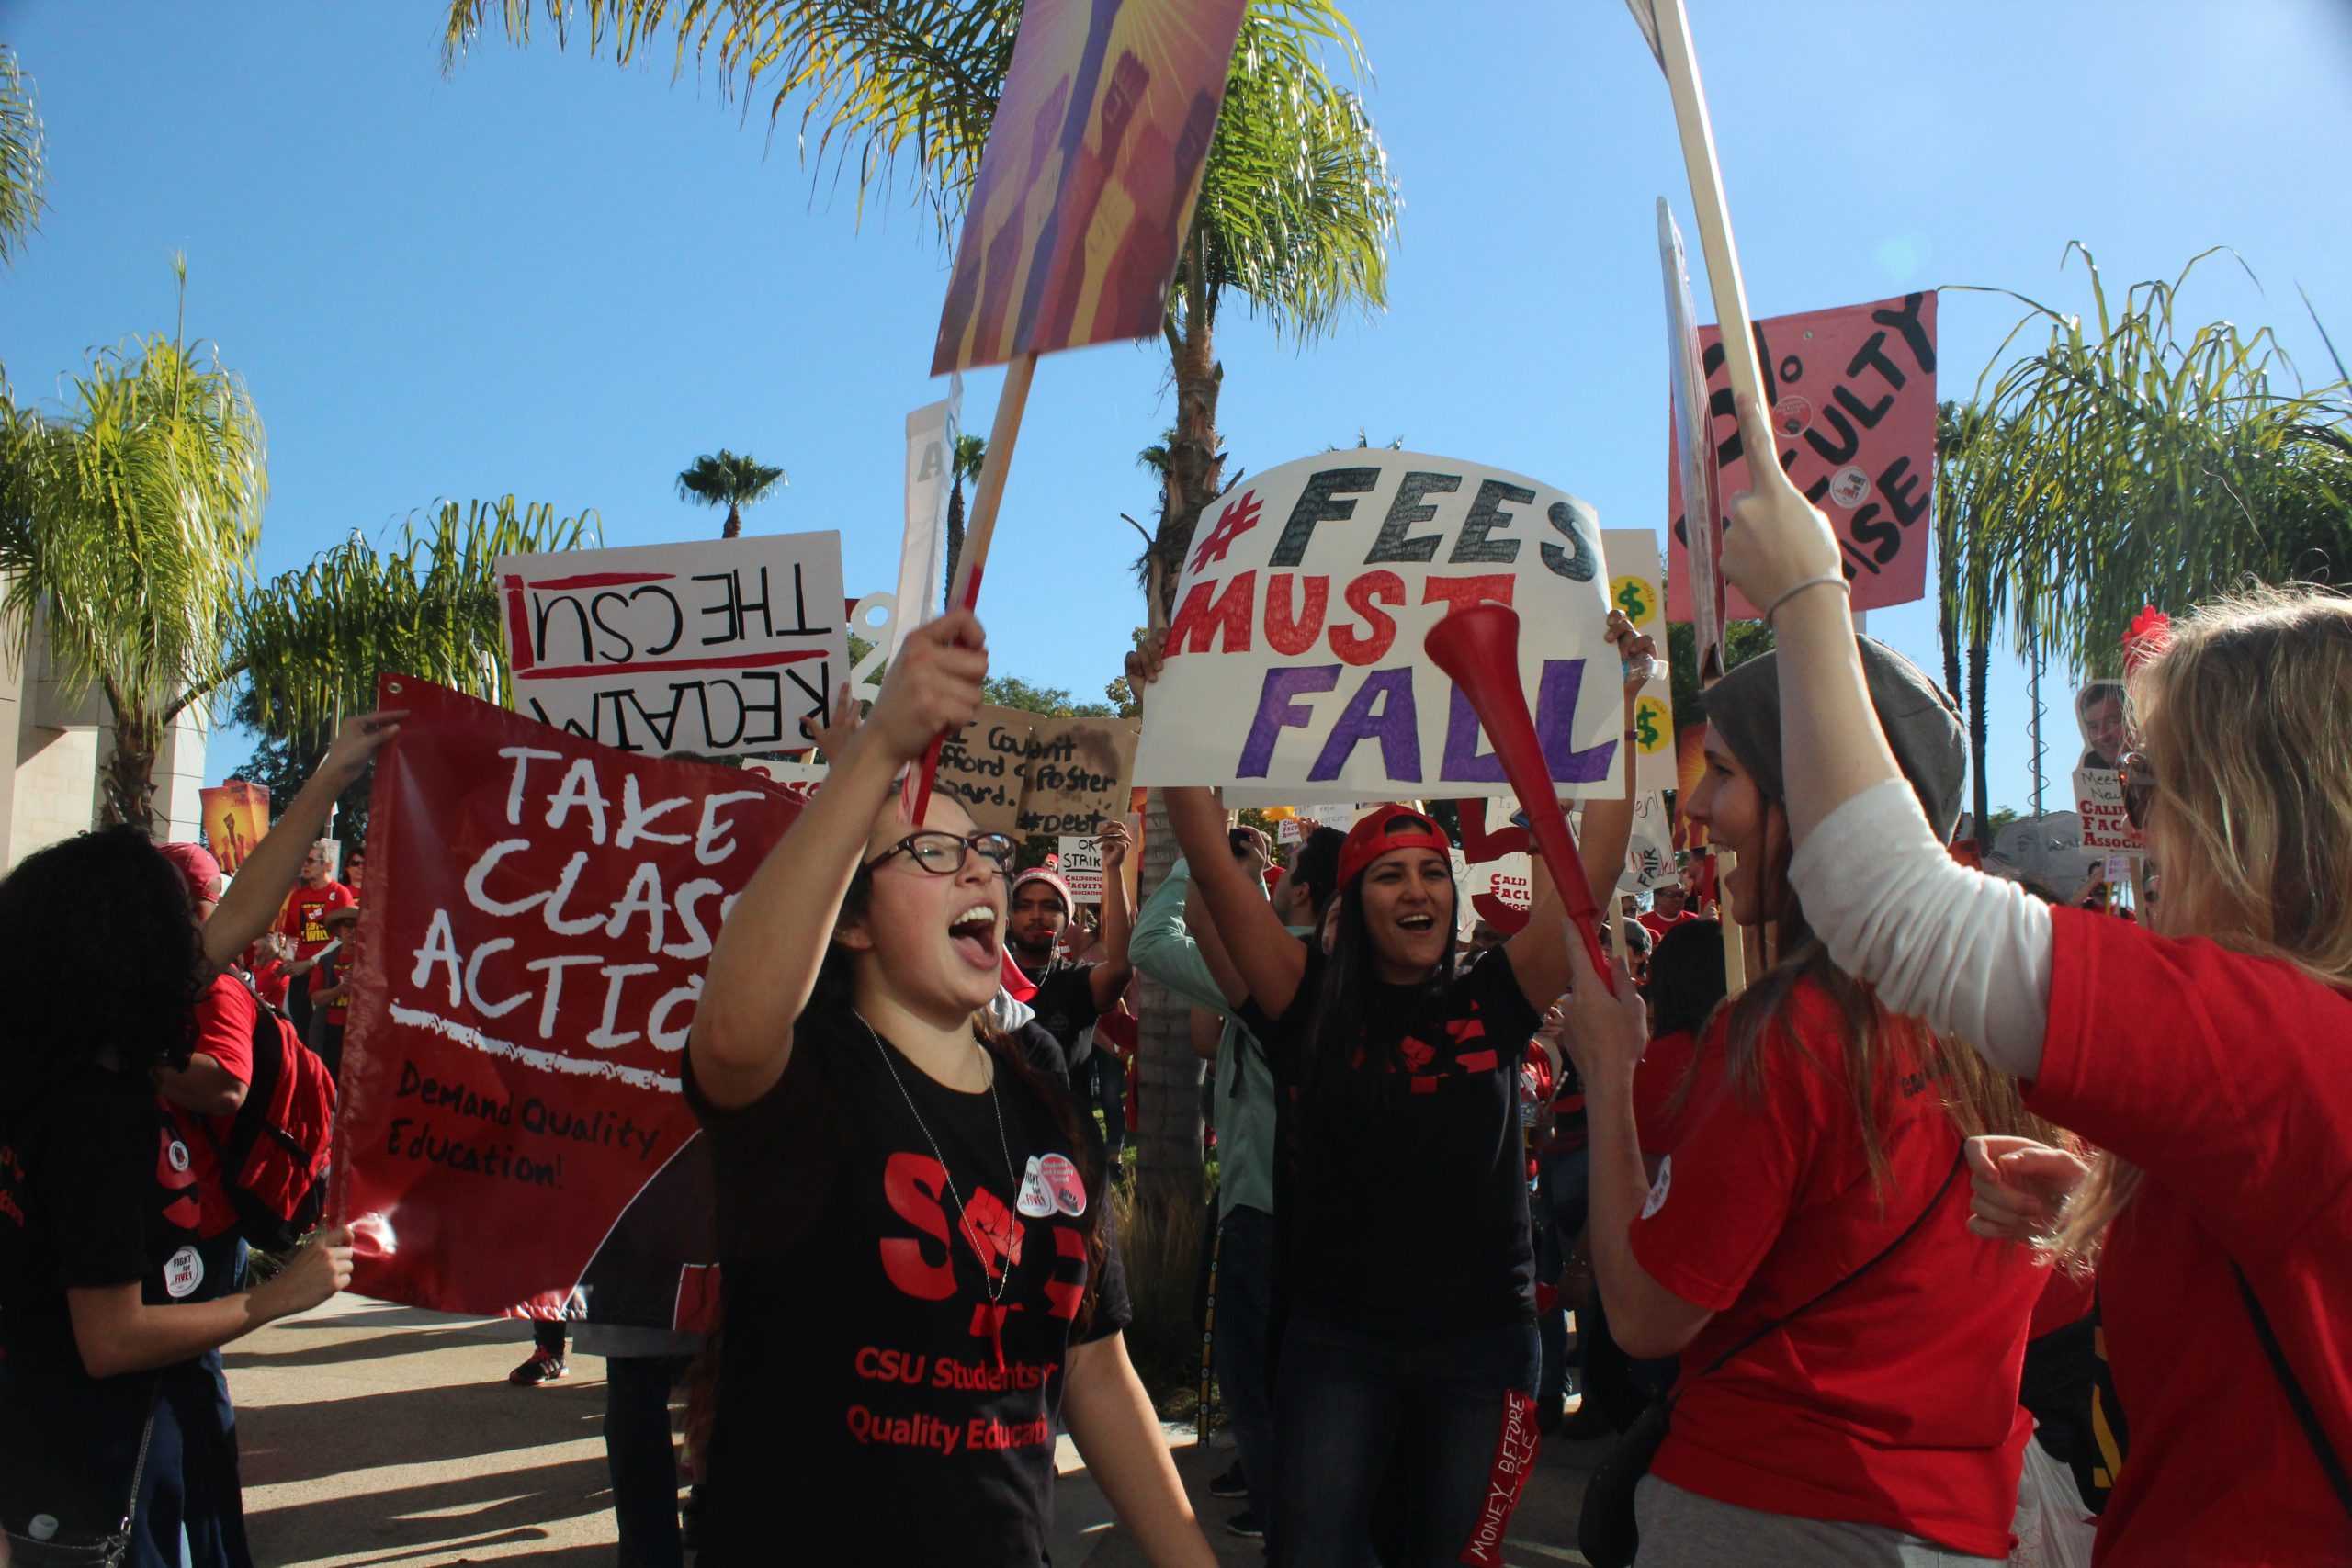
<instances>
[{"instance_id":1,"label":"drooping palm fronds behind the upside-down THE CSU sign","mask_svg":"<svg viewBox=\"0 0 2352 1568\"><path fill-rule=\"evenodd\" d=\"M597 543L595 512L562 517L513 496L463 510L442 501L421 524L405 522L388 550L353 534L238 609L235 670L249 682L254 726L308 745L341 715L374 708L386 670L508 703L499 557Z\"/></svg>"}]
</instances>

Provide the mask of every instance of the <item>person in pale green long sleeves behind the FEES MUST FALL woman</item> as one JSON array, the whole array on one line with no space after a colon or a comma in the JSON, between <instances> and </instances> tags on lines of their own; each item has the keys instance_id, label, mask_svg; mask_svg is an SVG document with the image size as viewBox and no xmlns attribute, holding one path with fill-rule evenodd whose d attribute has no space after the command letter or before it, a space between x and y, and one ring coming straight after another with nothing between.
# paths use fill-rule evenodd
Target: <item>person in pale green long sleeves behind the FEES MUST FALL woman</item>
<instances>
[{"instance_id":1,"label":"person in pale green long sleeves behind the FEES MUST FALL woman","mask_svg":"<svg viewBox=\"0 0 2352 1568\"><path fill-rule=\"evenodd\" d=\"M1317 827L1298 844L1275 886L1272 910L1294 938L1315 933L1338 891L1338 851L1345 835ZM1235 860L1256 877L1251 844L1228 839ZM1209 1084L1216 1103L1216 1331L1211 1361L1232 1427L1235 1472L1211 1481L1216 1495L1247 1495L1249 1507L1225 1528L1242 1537L1268 1535L1275 1507L1275 1074L1240 1004L1247 990L1216 938L1204 900L1192 898L1192 867L1178 858L1136 912L1129 943L1136 969L1167 985L1195 1016L1214 1018ZM1268 1537L1268 1556L1275 1542Z\"/></svg>"}]
</instances>

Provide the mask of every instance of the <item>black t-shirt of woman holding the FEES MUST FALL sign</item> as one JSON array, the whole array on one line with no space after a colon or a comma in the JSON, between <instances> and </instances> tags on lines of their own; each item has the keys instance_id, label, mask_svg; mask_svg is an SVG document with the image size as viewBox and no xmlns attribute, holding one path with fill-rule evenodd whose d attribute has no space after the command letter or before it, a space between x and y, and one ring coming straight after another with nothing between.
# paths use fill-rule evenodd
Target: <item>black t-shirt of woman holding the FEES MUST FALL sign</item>
<instances>
[{"instance_id":1,"label":"black t-shirt of woman holding the FEES MUST FALL sign","mask_svg":"<svg viewBox=\"0 0 2352 1568\"><path fill-rule=\"evenodd\" d=\"M1501 952L1430 994L1374 983L1364 1051L1310 1051L1324 954L1279 1020L1244 1009L1282 1091L1289 1300L1390 1338L1534 1321L1519 1060L1543 1023Z\"/></svg>"}]
</instances>

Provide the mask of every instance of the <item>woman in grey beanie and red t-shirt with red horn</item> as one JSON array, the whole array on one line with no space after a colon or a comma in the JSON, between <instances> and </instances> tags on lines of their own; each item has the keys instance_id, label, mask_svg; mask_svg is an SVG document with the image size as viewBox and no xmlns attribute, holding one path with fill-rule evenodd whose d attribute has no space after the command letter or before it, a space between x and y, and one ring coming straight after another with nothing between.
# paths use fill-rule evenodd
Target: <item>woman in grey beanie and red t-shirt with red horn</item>
<instances>
[{"instance_id":1,"label":"woman in grey beanie and red t-shirt with red horn","mask_svg":"<svg viewBox=\"0 0 2352 1568\"><path fill-rule=\"evenodd\" d=\"M1903 778L1950 835L1959 717L1898 654L1863 646ZM1708 691L1705 771L1682 811L1736 856L1731 907L1780 961L1708 1025L1656 1180L1635 1112L1644 1004L1583 961L1569 999L1609 1331L1630 1356L1682 1356L1672 1425L1632 1493L1639 1561L2002 1563L2044 1276L1964 1229L1959 1166L1966 1135L2039 1124L2013 1081L1900 1018L1813 936L1780 783L1802 748L1773 679L1764 656ZM1623 1523L1616 1505L1588 1495L1588 1528Z\"/></svg>"}]
</instances>

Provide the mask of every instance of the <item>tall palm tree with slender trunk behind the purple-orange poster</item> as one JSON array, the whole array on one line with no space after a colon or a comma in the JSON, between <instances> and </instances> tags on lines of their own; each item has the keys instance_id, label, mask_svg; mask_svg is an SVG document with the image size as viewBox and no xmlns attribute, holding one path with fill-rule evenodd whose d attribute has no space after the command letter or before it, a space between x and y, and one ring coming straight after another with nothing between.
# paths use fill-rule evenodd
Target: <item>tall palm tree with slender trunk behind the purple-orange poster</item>
<instances>
[{"instance_id":1,"label":"tall palm tree with slender trunk behind the purple-orange poster","mask_svg":"<svg viewBox=\"0 0 2352 1568\"><path fill-rule=\"evenodd\" d=\"M955 230L978 179L1021 21L1018 0L449 0L445 63L463 54L492 9L515 42L529 40L532 16L543 12L557 45L586 33L590 52L609 47L623 68L670 31L673 71L684 71L691 49L696 75L715 68L729 96L771 80L769 120L797 99L802 146L854 172L861 209L868 190L903 188L931 209L941 237ZM1225 487L1218 308L1240 296L1277 334L1312 341L1343 315L1378 310L1388 299L1397 186L1364 101L1331 80L1324 49L1336 49L1348 71L1367 71L1362 40L1336 0L1249 0L1162 324L1176 430L1160 527L1138 569L1157 583L1157 614L1176 592L1176 564L1202 508ZM1155 804L1143 891L1174 858L1174 835ZM1183 1009L1157 985L1145 985L1143 999L1136 1168L1145 1187L1176 1199L1200 1185L1190 1088L1200 1063Z\"/></svg>"}]
</instances>

